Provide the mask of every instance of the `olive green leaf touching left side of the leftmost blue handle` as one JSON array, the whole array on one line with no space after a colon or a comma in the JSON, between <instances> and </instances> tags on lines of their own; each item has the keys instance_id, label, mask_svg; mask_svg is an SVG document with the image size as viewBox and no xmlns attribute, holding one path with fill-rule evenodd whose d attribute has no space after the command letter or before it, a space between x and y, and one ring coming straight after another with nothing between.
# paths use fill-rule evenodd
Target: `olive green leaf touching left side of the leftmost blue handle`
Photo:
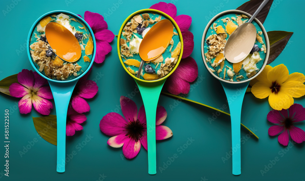
<instances>
[{"instance_id":1,"label":"olive green leaf touching left side of the leftmost blue handle","mask_svg":"<svg viewBox=\"0 0 305 181\"><path fill-rule=\"evenodd\" d=\"M36 131L43 139L53 145L57 145L57 124L55 115L33 117L33 122Z\"/></svg>"}]
</instances>

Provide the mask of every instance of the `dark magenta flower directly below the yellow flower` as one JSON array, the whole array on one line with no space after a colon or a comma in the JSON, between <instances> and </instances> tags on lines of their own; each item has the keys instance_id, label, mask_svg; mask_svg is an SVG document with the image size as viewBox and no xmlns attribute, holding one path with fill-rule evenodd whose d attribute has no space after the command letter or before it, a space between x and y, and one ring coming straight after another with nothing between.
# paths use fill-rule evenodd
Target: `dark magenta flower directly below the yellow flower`
<instances>
[{"instance_id":1,"label":"dark magenta flower directly below the yellow flower","mask_svg":"<svg viewBox=\"0 0 305 181\"><path fill-rule=\"evenodd\" d=\"M283 131L278 135L278 142L282 145L288 145L289 135L297 143L305 141L305 132L293 126L294 123L305 120L305 108L302 105L293 104L288 109L272 110L268 113L267 120L277 124L269 128L268 134L270 136L275 136Z\"/></svg>"}]
</instances>

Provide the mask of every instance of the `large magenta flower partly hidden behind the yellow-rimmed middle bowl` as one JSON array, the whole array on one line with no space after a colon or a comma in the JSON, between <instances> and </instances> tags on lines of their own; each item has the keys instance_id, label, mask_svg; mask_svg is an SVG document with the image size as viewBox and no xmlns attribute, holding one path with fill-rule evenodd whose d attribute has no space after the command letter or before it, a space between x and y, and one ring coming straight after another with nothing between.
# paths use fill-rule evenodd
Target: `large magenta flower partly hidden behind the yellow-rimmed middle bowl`
<instances>
[{"instance_id":1,"label":"large magenta flower partly hidden behind the yellow-rimmed middle bowl","mask_svg":"<svg viewBox=\"0 0 305 181\"><path fill-rule=\"evenodd\" d=\"M159 2L150 7L150 9L157 9L172 17L180 31L183 38L183 55L177 69L169 76L164 84L164 87L171 94L188 94L190 91L190 82L195 81L198 76L198 66L196 61L189 57L194 49L194 35L188 28L192 24L192 17L188 15L177 15L177 8L172 3Z\"/></svg>"}]
</instances>

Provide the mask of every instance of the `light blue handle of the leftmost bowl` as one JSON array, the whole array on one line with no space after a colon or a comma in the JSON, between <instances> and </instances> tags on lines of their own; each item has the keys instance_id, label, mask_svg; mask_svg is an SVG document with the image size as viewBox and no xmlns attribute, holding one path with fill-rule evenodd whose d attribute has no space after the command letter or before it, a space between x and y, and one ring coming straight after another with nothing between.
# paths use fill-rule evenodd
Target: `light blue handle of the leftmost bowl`
<instances>
[{"instance_id":1,"label":"light blue handle of the leftmost bowl","mask_svg":"<svg viewBox=\"0 0 305 181\"><path fill-rule=\"evenodd\" d=\"M77 83L56 83L48 81L52 90L57 117L57 168L59 173L65 172L66 165L66 120L70 98Z\"/></svg>"}]
</instances>

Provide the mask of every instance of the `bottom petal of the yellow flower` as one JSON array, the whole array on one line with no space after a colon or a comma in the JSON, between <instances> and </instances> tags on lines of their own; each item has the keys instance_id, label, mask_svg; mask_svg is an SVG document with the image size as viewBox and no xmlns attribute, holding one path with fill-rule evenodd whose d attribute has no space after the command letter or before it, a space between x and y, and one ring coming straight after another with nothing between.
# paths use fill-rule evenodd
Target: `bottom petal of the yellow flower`
<instances>
[{"instance_id":1,"label":"bottom petal of the yellow flower","mask_svg":"<svg viewBox=\"0 0 305 181\"><path fill-rule=\"evenodd\" d=\"M270 94L268 101L270 106L275 110L288 109L293 104L290 97L281 91L278 94Z\"/></svg>"}]
</instances>

